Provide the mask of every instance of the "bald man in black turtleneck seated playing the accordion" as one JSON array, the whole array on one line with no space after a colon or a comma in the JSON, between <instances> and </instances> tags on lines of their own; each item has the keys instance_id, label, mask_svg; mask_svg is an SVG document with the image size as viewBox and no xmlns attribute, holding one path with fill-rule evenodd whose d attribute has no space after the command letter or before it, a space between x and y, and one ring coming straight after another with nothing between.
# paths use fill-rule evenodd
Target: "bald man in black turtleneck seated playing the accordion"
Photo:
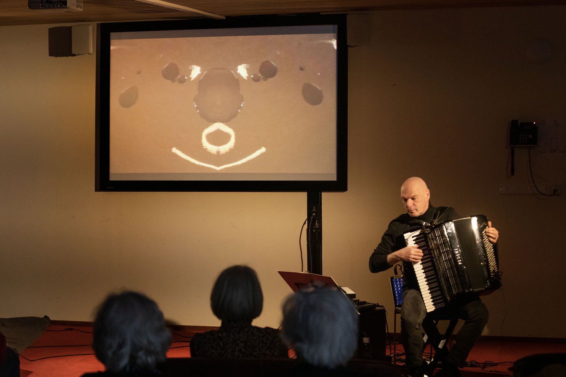
<instances>
[{"instance_id":1,"label":"bald man in black turtleneck seated playing the accordion","mask_svg":"<svg viewBox=\"0 0 566 377\"><path fill-rule=\"evenodd\" d=\"M413 263L422 259L423 253L417 246L406 246L403 234L421 228L423 222L436 223L458 219L452 207L433 207L430 190L419 177L407 179L401 186L401 200L405 211L389 223L381 237L379 246L370 257L370 271L381 272L397 262L403 262L404 281L403 305L401 306L401 342L405 349L405 363L409 368L407 376L422 377L426 366L422 358L422 321L427 316L419 291ZM488 222L486 234L491 243L497 242L499 232ZM482 334L488 319L485 305L476 294L464 295L452 300L447 306L429 314L431 319L464 319L454 345L443 368L437 376L460 376L458 367L464 367L466 358Z\"/></svg>"}]
</instances>

